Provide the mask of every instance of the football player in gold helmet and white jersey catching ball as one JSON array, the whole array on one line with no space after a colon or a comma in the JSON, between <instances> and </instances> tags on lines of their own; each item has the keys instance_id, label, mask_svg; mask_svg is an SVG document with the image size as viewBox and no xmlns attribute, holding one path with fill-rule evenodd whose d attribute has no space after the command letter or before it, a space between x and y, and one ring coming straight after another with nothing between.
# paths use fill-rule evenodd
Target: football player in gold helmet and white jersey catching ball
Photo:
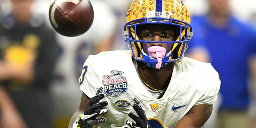
<instances>
[{"instance_id":1,"label":"football player in gold helmet and white jersey catching ball","mask_svg":"<svg viewBox=\"0 0 256 128\"><path fill-rule=\"evenodd\" d=\"M123 35L130 50L87 58L69 128L200 128L218 97L210 63L186 58L193 32L180 0L135 0Z\"/></svg>"}]
</instances>

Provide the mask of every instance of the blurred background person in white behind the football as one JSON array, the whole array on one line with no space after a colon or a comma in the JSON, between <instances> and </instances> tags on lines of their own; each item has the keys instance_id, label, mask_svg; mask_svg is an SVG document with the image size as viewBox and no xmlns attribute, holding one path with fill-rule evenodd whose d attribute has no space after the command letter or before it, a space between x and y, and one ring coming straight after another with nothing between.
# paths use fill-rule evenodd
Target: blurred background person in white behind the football
<instances>
[{"instance_id":1,"label":"blurred background person in white behind the football","mask_svg":"<svg viewBox=\"0 0 256 128\"><path fill-rule=\"evenodd\" d=\"M57 34L63 51L54 70L56 77L52 86L56 108L55 128L67 128L70 118L80 104L77 99L81 98L82 93L78 88L78 78L84 60L89 54L115 50L115 43L120 43L113 41L119 22L113 8L102 0L90 2L94 9L94 20L86 33L76 37Z\"/></svg>"}]
</instances>

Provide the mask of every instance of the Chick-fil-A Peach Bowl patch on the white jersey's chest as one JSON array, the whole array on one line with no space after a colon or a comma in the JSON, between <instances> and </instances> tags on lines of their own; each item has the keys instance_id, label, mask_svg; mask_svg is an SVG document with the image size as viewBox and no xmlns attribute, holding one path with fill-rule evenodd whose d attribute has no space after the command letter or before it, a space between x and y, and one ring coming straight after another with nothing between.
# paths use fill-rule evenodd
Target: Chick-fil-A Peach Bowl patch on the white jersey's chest
<instances>
[{"instance_id":1,"label":"Chick-fil-A Peach Bowl patch on the white jersey's chest","mask_svg":"<svg viewBox=\"0 0 256 128\"><path fill-rule=\"evenodd\" d=\"M104 75L102 84L106 95L119 96L122 93L127 93L127 80L122 76L124 72L113 70L112 75Z\"/></svg>"}]
</instances>

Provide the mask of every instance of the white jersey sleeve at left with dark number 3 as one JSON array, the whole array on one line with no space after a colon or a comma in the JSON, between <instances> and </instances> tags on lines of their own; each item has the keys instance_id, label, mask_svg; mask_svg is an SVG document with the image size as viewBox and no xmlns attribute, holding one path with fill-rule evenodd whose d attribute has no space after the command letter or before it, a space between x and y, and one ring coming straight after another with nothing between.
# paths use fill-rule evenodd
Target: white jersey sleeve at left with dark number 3
<instances>
[{"instance_id":1,"label":"white jersey sleeve at left with dark number 3","mask_svg":"<svg viewBox=\"0 0 256 128\"><path fill-rule=\"evenodd\" d=\"M96 95L97 90L100 88L100 77L93 69L94 61L93 56L90 55L84 62L82 73L79 78L80 90L84 92L89 98Z\"/></svg>"}]
</instances>

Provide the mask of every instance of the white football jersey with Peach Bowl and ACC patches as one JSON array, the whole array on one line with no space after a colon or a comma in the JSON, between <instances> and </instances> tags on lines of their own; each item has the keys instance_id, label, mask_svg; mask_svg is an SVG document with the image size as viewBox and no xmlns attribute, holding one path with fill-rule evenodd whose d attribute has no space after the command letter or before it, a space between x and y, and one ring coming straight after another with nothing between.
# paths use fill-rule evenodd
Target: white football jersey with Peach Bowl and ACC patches
<instances>
[{"instance_id":1,"label":"white football jersey with Peach Bowl and ACC patches","mask_svg":"<svg viewBox=\"0 0 256 128\"><path fill-rule=\"evenodd\" d=\"M133 104L146 112L153 128L174 128L192 106L213 104L220 89L218 72L210 63L184 57L174 64L170 84L162 98L154 98L141 82L130 50L101 52L84 63L80 90L92 98L103 93L108 102L106 122L99 128L124 128ZM130 119L132 120L132 119Z\"/></svg>"}]
</instances>

